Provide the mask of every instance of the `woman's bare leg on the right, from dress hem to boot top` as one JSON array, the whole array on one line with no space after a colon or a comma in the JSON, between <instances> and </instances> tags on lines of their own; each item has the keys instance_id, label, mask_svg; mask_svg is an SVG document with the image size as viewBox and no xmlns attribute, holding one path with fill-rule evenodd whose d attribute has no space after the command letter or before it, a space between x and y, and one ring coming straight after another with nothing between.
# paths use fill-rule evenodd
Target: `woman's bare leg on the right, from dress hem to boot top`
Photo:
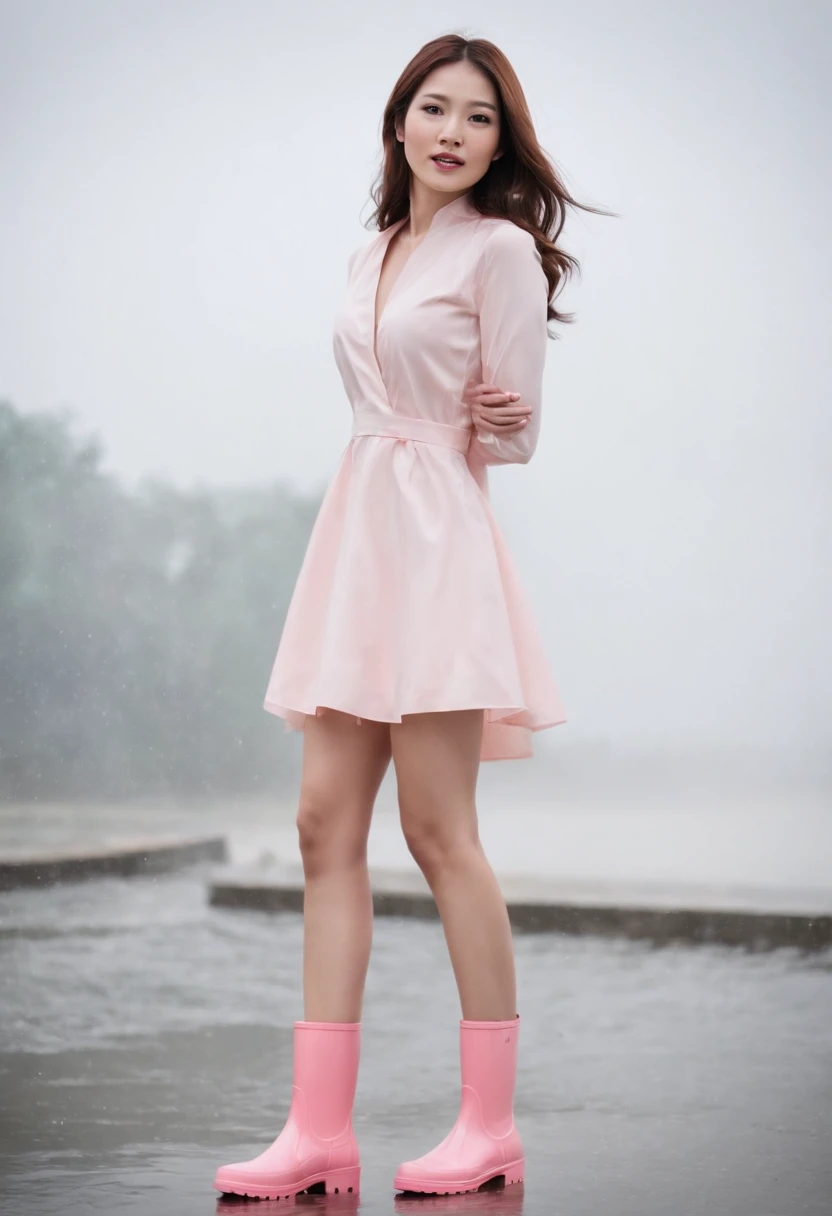
<instances>
[{"instance_id":1,"label":"woman's bare leg on the right, from dress hem to boot top","mask_svg":"<svg viewBox=\"0 0 832 1216\"><path fill-rule=\"evenodd\" d=\"M389 730L401 828L439 908L462 1017L504 1021L517 1013L515 951L477 827L483 716L406 714Z\"/></svg>"}]
</instances>

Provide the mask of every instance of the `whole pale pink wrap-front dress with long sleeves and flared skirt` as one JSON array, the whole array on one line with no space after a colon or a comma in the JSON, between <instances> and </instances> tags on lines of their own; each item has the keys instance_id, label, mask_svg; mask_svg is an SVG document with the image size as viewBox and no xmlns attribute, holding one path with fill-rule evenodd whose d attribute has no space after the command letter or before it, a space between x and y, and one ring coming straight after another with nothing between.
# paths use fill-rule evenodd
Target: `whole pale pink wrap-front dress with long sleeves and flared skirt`
<instances>
[{"instance_id":1,"label":"whole pale pink wrap-front dress with long sleeves and flared skirt","mask_svg":"<svg viewBox=\"0 0 832 1216\"><path fill-rule=\"evenodd\" d=\"M265 709L303 730L325 708L400 722L484 709L482 760L533 755L566 721L488 497L488 465L524 465L540 433L546 277L534 240L444 206L395 280L376 288L400 220L356 249L335 356L353 433L324 496L286 615ZM373 345L377 348L373 349ZM466 382L532 406L522 434L472 430Z\"/></svg>"}]
</instances>

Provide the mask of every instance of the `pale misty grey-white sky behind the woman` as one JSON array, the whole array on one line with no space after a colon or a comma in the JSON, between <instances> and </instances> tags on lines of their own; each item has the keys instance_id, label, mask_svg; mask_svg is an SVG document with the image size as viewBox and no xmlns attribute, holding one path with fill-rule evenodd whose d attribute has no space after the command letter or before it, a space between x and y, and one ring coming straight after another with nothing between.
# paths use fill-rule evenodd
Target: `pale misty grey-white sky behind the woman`
<instances>
[{"instance_id":1,"label":"pale misty grey-white sky behind the woman","mask_svg":"<svg viewBox=\"0 0 832 1216\"><path fill-rule=\"evenodd\" d=\"M569 717L544 733L828 748L831 24L2 0L0 398L75 410L128 485L321 491L384 101L429 38L490 38L568 186L620 215L569 219L540 446L491 472Z\"/></svg>"}]
</instances>

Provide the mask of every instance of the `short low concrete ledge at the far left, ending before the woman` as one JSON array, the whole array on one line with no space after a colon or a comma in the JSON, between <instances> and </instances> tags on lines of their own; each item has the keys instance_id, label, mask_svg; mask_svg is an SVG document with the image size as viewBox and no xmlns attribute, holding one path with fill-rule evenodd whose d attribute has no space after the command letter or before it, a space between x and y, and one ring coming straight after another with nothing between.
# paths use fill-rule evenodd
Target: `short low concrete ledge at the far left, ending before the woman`
<instances>
[{"instance_id":1,"label":"short low concrete ledge at the far left, ending before the woman","mask_svg":"<svg viewBox=\"0 0 832 1216\"><path fill-rule=\"evenodd\" d=\"M44 854L0 855L0 890L52 886L88 878L128 878L227 861L225 837L111 838L101 845Z\"/></svg>"}]
</instances>

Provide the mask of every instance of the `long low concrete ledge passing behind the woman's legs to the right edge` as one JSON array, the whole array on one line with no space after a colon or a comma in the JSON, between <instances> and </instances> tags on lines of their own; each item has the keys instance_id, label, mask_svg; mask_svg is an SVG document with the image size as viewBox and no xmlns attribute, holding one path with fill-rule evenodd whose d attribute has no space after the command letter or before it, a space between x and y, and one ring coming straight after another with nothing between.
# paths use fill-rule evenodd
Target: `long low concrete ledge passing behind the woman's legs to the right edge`
<instances>
[{"instance_id":1,"label":"long low concrete ledge passing behind the woman's legs to the right edge","mask_svg":"<svg viewBox=\"0 0 832 1216\"><path fill-rule=\"evenodd\" d=\"M371 871L376 916L437 919L420 873ZM747 950L832 946L832 893L752 888L670 888L658 884L558 882L502 876L512 927L522 933L628 938L654 945L719 942ZM218 877L214 907L302 912L303 876L285 867L266 876Z\"/></svg>"}]
</instances>

